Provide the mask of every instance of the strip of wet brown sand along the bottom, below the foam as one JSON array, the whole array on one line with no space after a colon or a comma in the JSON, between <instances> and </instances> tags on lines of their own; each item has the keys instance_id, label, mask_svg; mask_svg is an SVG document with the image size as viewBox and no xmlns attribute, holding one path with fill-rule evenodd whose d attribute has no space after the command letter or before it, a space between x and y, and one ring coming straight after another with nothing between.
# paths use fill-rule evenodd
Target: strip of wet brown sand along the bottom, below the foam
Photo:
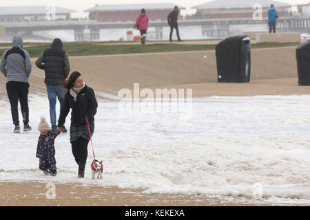
<instances>
[{"instance_id":1,"label":"strip of wet brown sand along the bottom, below the foam","mask_svg":"<svg viewBox=\"0 0 310 220\"><path fill-rule=\"evenodd\" d=\"M4 182L0 184L1 206L251 206L221 201L206 195L149 194L142 189L55 185L55 197L41 182ZM50 186L49 186L50 187ZM47 197L48 195L48 197ZM47 199L48 198L48 199Z\"/></svg>"}]
</instances>

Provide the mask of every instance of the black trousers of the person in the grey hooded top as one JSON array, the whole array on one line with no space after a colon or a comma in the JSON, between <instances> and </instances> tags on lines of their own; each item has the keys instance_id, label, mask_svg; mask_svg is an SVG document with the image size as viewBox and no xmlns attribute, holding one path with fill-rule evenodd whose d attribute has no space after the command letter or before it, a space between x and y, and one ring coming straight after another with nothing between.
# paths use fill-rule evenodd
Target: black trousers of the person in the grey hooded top
<instances>
[{"instance_id":1,"label":"black trousers of the person in the grey hooded top","mask_svg":"<svg viewBox=\"0 0 310 220\"><path fill-rule=\"evenodd\" d=\"M21 115L23 115L23 124L28 124L29 122L28 90L29 83L13 81L6 83L6 91L10 100L12 119L15 126L19 125L19 102L21 104Z\"/></svg>"}]
</instances>

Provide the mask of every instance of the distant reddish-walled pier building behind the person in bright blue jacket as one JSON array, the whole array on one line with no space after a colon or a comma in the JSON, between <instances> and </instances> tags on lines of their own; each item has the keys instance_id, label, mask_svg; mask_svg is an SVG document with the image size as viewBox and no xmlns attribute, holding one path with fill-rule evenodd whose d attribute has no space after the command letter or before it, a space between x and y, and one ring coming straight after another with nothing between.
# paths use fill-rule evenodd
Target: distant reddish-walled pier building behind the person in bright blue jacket
<instances>
[{"instance_id":1,"label":"distant reddish-walled pier building behind the person in bright blue jacket","mask_svg":"<svg viewBox=\"0 0 310 220\"><path fill-rule=\"evenodd\" d=\"M251 19L256 4L262 5L262 17L268 17L271 3L276 6L279 17L290 16L291 5L280 1L269 0L216 0L192 7L197 12L194 19Z\"/></svg>"}]
</instances>

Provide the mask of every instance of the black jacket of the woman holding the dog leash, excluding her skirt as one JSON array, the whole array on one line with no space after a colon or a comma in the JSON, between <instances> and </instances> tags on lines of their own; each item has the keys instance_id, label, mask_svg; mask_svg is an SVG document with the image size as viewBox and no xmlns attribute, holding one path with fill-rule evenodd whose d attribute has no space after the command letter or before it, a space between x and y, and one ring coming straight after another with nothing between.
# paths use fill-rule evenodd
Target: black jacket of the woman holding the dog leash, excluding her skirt
<instances>
[{"instance_id":1,"label":"black jacket of the woman holding the dog leash, excluding her skirt","mask_svg":"<svg viewBox=\"0 0 310 220\"><path fill-rule=\"evenodd\" d=\"M85 116L90 124L94 124L94 115L97 112L98 103L94 94L94 90L90 87L85 87L79 92L74 102L73 96L70 91L65 94L65 100L63 100L63 107L59 115L58 126L61 127L65 124L65 118L67 117L70 109L71 111L71 127L85 125Z\"/></svg>"}]
</instances>

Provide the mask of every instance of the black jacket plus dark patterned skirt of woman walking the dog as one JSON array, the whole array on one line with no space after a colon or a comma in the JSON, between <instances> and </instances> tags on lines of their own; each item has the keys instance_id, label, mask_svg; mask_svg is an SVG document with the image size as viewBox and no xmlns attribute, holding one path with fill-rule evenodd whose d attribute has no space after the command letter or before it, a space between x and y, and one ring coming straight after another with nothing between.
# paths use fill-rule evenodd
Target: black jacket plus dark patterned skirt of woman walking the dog
<instances>
[{"instance_id":1,"label":"black jacket plus dark patterned skirt of woman walking the dog","mask_svg":"<svg viewBox=\"0 0 310 220\"><path fill-rule=\"evenodd\" d=\"M76 96L74 101L70 91L65 94L65 100L63 100L63 107L59 115L58 126L61 127L65 124L65 118L67 117L70 109L71 111L71 125L70 125L70 142L76 141L79 137L84 137L90 140L88 132L87 122L90 123L91 135L94 133L94 115L97 112L98 103L94 94L94 90L90 87L85 87Z\"/></svg>"}]
</instances>

